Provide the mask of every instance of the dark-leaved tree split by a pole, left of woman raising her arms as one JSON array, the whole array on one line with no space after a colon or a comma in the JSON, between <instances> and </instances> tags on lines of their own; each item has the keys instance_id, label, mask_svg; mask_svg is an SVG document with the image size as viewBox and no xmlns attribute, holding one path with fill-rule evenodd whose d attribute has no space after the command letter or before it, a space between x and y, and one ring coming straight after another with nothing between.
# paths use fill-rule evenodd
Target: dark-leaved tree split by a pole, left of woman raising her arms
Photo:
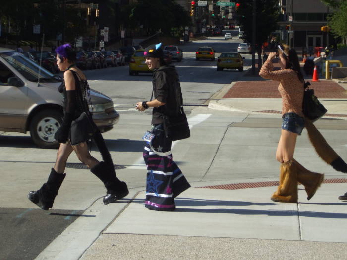
<instances>
[{"instance_id":1,"label":"dark-leaved tree split by a pole, left of woman raising her arms","mask_svg":"<svg viewBox=\"0 0 347 260\"><path fill-rule=\"evenodd\" d=\"M236 14L243 31L243 39L247 43L252 42L252 0L239 0L240 5L237 7ZM273 31L277 29L279 19L278 0L256 0L256 52L261 56L261 49ZM261 59L258 59L259 68Z\"/></svg>"}]
</instances>

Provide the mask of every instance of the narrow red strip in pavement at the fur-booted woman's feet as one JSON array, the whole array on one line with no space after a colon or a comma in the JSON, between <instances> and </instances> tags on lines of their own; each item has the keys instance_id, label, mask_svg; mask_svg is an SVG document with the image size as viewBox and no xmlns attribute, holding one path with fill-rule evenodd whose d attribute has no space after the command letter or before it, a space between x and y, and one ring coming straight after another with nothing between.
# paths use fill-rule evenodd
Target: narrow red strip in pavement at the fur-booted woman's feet
<instances>
[{"instance_id":1,"label":"narrow red strip in pavement at the fur-booted woman's feet","mask_svg":"<svg viewBox=\"0 0 347 260\"><path fill-rule=\"evenodd\" d=\"M347 179L325 179L323 183L347 183ZM197 188L239 190L239 189L249 189L249 188L259 188L259 187L271 187L271 186L278 186L278 185L279 185L278 181L263 181L263 182L222 184L222 185L204 186L204 187L197 187Z\"/></svg>"}]
</instances>

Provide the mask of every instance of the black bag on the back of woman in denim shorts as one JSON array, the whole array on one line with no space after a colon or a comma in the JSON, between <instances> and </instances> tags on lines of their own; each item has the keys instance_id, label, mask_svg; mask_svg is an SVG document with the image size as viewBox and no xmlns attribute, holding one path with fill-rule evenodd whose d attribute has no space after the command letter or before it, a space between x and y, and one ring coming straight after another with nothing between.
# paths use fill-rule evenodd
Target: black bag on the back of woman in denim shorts
<instances>
[{"instance_id":1,"label":"black bag on the back of woman in denim shorts","mask_svg":"<svg viewBox=\"0 0 347 260\"><path fill-rule=\"evenodd\" d=\"M321 118L327 112L327 109L319 102L318 98L314 95L314 90L309 89L309 82L304 83L304 97L302 102L302 111L308 119L312 122Z\"/></svg>"}]
</instances>

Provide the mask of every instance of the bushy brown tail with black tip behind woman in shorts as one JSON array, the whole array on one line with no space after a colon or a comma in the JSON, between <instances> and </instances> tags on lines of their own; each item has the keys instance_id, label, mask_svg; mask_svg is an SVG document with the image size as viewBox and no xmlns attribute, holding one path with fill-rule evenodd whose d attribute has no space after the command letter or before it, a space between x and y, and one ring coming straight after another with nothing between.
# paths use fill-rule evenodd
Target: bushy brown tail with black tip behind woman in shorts
<instances>
[{"instance_id":1,"label":"bushy brown tail with black tip behind woman in shorts","mask_svg":"<svg viewBox=\"0 0 347 260\"><path fill-rule=\"evenodd\" d=\"M326 163L333 166L335 170L347 173L347 164L345 161L343 161L334 149L331 148L311 120L305 118L305 127L307 129L308 137L318 156Z\"/></svg>"}]
</instances>

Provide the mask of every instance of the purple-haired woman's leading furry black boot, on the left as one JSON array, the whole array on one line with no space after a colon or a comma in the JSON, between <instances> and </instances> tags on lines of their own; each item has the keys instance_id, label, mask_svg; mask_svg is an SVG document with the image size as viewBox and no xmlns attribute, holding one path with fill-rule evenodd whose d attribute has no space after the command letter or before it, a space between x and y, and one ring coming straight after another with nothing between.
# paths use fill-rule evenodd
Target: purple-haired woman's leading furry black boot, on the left
<instances>
[{"instance_id":1,"label":"purple-haired woman's leading furry black boot, on the left","mask_svg":"<svg viewBox=\"0 0 347 260\"><path fill-rule=\"evenodd\" d=\"M53 168L46 183L42 185L40 190L31 191L28 194L28 199L44 210L53 207L54 199L56 198L62 181L66 173L57 173Z\"/></svg>"}]
</instances>

